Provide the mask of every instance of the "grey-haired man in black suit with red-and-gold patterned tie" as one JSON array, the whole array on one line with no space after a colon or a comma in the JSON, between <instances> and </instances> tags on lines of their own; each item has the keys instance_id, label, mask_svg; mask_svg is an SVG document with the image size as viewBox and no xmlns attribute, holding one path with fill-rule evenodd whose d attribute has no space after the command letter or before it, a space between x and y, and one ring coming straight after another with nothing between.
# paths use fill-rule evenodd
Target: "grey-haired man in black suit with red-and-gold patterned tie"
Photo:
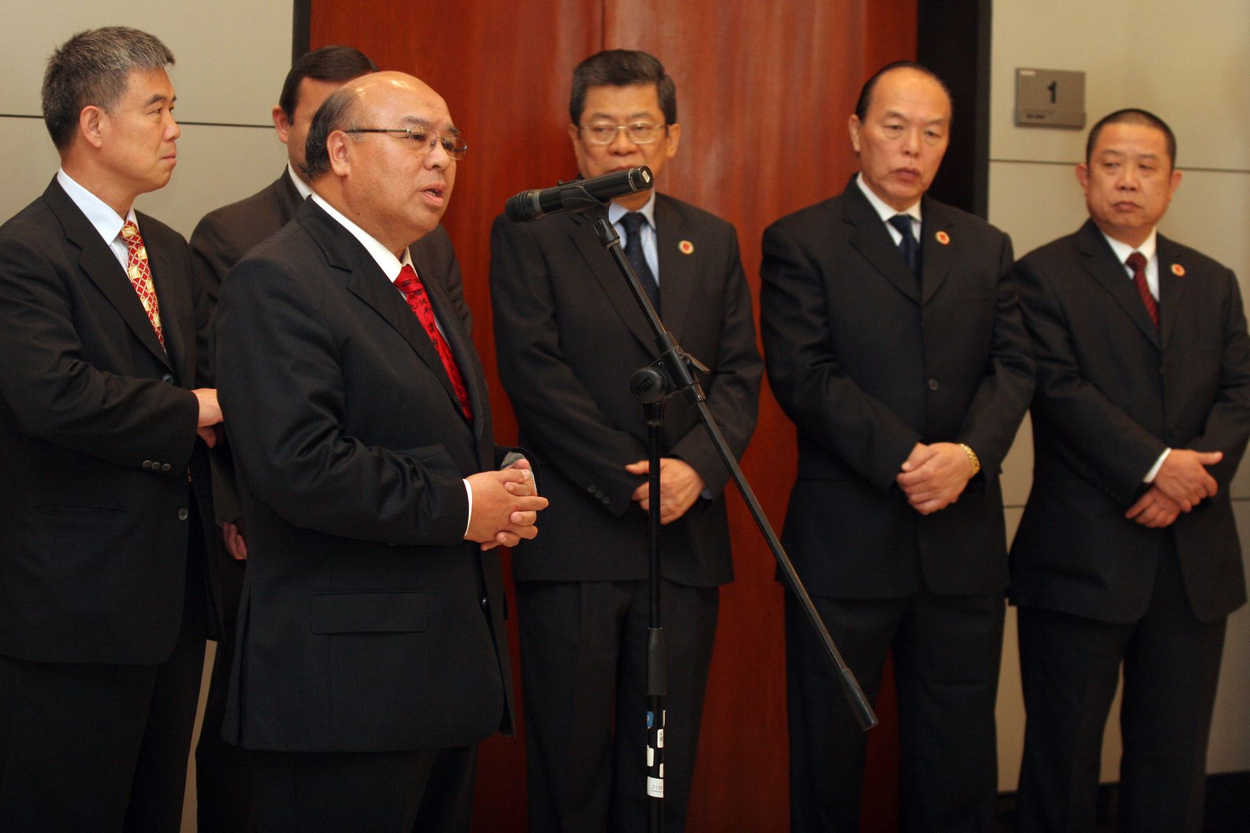
<instances>
[{"instance_id":1,"label":"grey-haired man in black suit with red-and-gold patterned tie","mask_svg":"<svg viewBox=\"0 0 1250 833\"><path fill-rule=\"evenodd\" d=\"M208 310L182 237L136 214L179 127L158 39L49 61L61 169L0 227L0 829L178 831L209 622L195 388ZM194 390L192 390L194 388ZM194 475L192 475L194 472Z\"/></svg>"}]
</instances>

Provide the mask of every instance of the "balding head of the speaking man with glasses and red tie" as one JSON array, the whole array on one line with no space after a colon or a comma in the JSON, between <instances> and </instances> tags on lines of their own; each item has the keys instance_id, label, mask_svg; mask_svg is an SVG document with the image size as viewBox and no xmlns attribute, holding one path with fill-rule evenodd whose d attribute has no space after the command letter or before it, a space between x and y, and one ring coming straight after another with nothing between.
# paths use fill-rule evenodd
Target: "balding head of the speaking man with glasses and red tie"
<instances>
[{"instance_id":1,"label":"balding head of the speaking man with glasses and red tie","mask_svg":"<svg viewBox=\"0 0 1250 833\"><path fill-rule=\"evenodd\" d=\"M459 144L446 102L428 84L372 72L330 94L312 116L305 174L316 194L401 254L442 217Z\"/></svg>"}]
</instances>

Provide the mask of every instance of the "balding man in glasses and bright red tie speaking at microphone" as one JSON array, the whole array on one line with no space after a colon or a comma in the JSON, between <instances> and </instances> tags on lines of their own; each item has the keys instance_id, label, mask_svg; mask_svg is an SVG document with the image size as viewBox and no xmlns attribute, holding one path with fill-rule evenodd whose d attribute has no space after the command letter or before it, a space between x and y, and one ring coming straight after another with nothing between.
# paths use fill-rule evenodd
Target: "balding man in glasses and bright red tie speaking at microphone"
<instances>
[{"instance_id":1,"label":"balding man in glasses and bright red tie speaking at microphone","mask_svg":"<svg viewBox=\"0 0 1250 833\"><path fill-rule=\"evenodd\" d=\"M314 196L222 285L249 538L225 732L262 831L468 831L475 744L512 726L489 550L546 501L526 461L495 470L472 341L422 282L446 265L409 249L465 150L419 80L348 84L309 131Z\"/></svg>"}]
</instances>

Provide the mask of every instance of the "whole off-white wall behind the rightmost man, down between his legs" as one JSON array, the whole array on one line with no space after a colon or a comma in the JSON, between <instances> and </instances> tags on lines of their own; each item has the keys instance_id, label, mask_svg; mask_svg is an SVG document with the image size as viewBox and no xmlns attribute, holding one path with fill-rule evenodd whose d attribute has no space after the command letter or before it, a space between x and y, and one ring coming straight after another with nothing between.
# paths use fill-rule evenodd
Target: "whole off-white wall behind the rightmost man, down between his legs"
<instances>
[{"instance_id":1,"label":"whole off-white wall behind the rightmost man, down between his legs","mask_svg":"<svg viewBox=\"0 0 1250 833\"><path fill-rule=\"evenodd\" d=\"M990 221L1024 255L1070 234L1085 205L1072 169L1085 130L1016 127L1015 69L1085 71L1086 124L1120 107L1156 112L1176 132L1184 174L1161 231L1232 267L1250 295L1250 6L1245 0L1001 0L994 4L990 87ZM1028 423L1005 466L1009 530L1028 497ZM1250 553L1250 463L1232 485L1244 556ZM1024 704L1009 613L999 693L999 784L1020 772ZM1210 772L1250 769L1250 611L1229 619ZM1119 779L1118 708L1109 722L1102 779Z\"/></svg>"}]
</instances>

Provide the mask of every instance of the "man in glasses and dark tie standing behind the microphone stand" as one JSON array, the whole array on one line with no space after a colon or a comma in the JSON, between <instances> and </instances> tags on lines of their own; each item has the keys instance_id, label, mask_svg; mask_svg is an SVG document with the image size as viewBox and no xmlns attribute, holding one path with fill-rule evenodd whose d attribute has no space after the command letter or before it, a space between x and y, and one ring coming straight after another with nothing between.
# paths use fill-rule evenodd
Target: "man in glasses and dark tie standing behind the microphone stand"
<instances>
[{"instance_id":1,"label":"man in glasses and dark tie standing behind the microphone stand","mask_svg":"<svg viewBox=\"0 0 1250 833\"><path fill-rule=\"evenodd\" d=\"M646 52L611 50L578 65L569 116L585 177L638 165L659 175L681 135L672 79ZM734 227L652 191L620 197L606 214L678 342L710 368L709 405L741 455L762 368ZM500 216L491 232L499 373L555 503L542 538L512 559L534 831L646 828L649 465L629 380L656 353L592 221ZM681 831L719 587L734 573L724 463L681 397L665 417L664 804L665 829Z\"/></svg>"}]
</instances>

